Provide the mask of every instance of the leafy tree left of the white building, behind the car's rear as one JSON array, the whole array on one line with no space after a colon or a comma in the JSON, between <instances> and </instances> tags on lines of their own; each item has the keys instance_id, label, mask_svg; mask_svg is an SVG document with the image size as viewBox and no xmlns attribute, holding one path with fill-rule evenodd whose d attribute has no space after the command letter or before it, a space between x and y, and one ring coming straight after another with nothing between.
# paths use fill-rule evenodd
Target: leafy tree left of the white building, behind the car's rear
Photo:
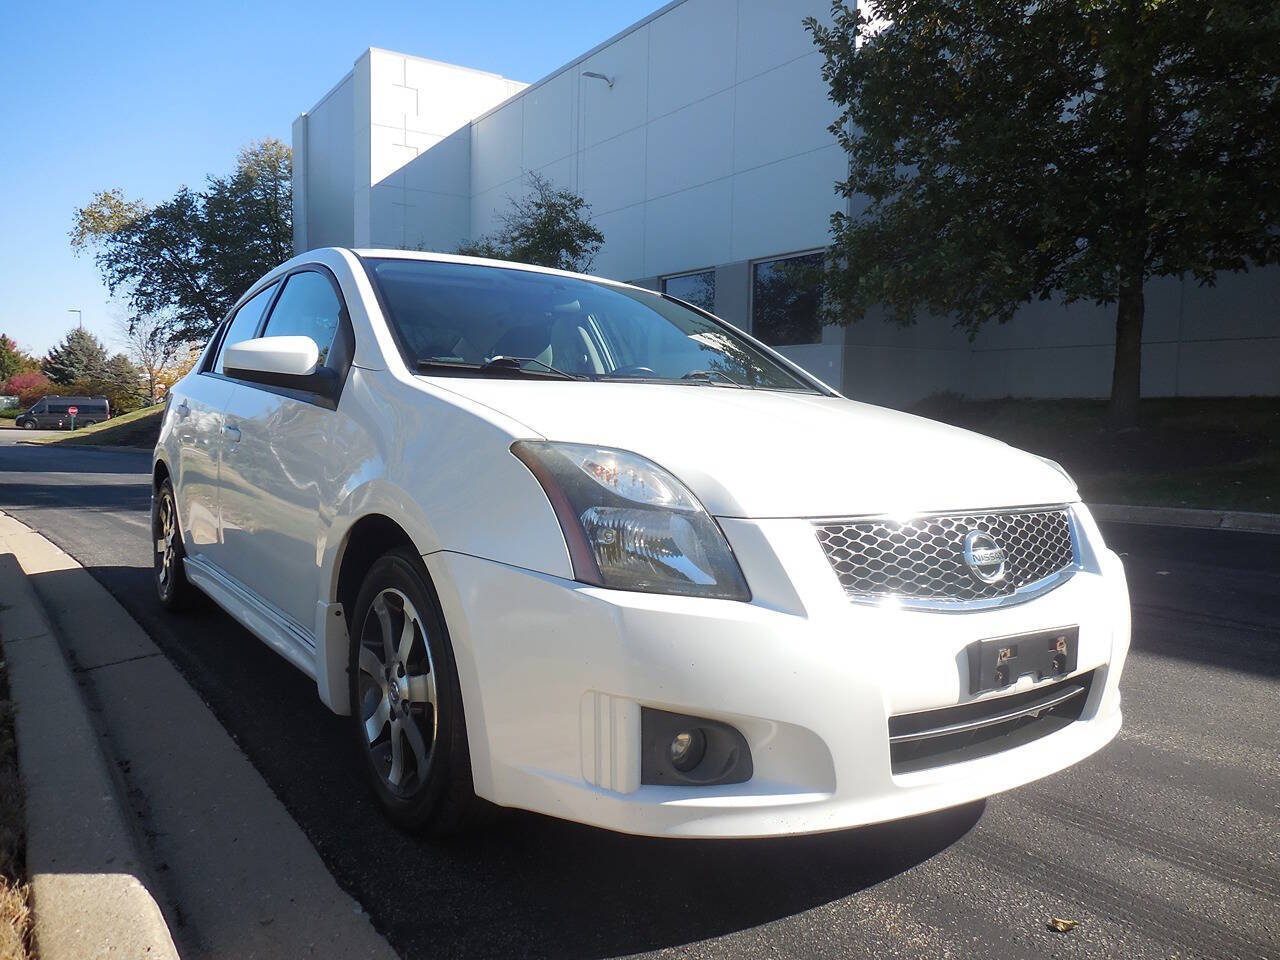
<instances>
[{"instance_id":1,"label":"leafy tree left of the white building, behind the car's rear","mask_svg":"<svg viewBox=\"0 0 1280 960\"><path fill-rule=\"evenodd\" d=\"M72 246L91 250L108 289L180 340L206 338L250 284L292 256L289 147L244 147L228 177L148 207L101 191L74 215Z\"/></svg>"}]
</instances>

